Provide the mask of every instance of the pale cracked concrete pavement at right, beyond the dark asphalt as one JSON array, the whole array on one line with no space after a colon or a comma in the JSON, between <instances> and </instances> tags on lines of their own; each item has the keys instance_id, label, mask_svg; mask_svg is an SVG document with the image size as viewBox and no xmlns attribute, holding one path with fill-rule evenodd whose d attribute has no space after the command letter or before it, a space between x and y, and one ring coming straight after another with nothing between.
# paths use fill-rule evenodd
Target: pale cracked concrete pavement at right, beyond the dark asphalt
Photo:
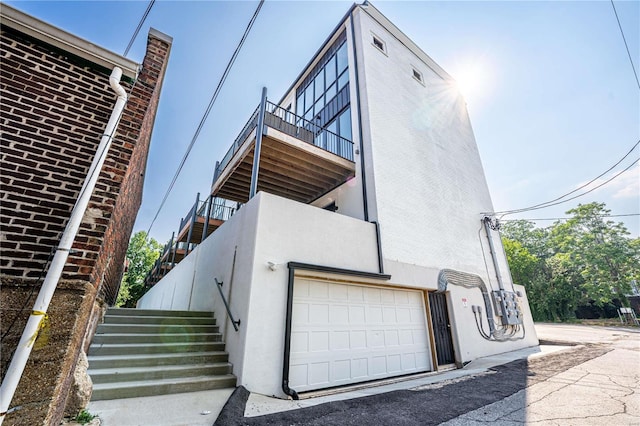
<instances>
[{"instance_id":1,"label":"pale cracked concrete pavement at right, beyond the dark asphalt","mask_svg":"<svg viewBox=\"0 0 640 426\"><path fill-rule=\"evenodd\" d=\"M640 425L639 329L537 324L536 330L540 338L612 350L444 425Z\"/></svg>"}]
</instances>

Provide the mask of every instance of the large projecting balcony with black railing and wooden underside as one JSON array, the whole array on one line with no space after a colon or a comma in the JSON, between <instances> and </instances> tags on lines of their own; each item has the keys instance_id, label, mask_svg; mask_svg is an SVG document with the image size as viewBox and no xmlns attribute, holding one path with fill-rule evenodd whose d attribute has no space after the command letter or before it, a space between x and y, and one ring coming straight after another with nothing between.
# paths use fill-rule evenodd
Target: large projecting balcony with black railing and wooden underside
<instances>
[{"instance_id":1,"label":"large projecting balcony with black railing and wooden underside","mask_svg":"<svg viewBox=\"0 0 640 426\"><path fill-rule=\"evenodd\" d=\"M249 200L259 108L216 165L212 195ZM266 102L258 191L310 203L355 176L353 142Z\"/></svg>"}]
</instances>

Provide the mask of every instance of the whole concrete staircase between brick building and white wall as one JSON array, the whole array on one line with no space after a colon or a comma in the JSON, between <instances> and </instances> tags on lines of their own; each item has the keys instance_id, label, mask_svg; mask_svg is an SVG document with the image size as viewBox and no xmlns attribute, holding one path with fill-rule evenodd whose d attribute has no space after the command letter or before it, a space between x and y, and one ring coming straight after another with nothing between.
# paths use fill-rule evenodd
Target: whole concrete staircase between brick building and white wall
<instances>
[{"instance_id":1,"label":"whole concrete staircase between brick building and white wall","mask_svg":"<svg viewBox=\"0 0 640 426\"><path fill-rule=\"evenodd\" d=\"M92 401L234 387L211 312L109 308L89 348Z\"/></svg>"}]
</instances>

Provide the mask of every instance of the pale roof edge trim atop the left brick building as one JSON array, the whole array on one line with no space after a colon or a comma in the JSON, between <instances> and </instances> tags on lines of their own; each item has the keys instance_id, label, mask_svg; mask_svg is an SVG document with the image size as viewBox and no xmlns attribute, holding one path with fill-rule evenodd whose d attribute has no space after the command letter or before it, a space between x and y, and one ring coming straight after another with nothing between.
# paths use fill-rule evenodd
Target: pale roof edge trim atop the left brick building
<instances>
[{"instance_id":1,"label":"pale roof edge trim atop the left brick building","mask_svg":"<svg viewBox=\"0 0 640 426\"><path fill-rule=\"evenodd\" d=\"M2 3L0 24L18 30L30 37L41 40L72 55L78 56L96 65L111 69L120 67L122 73L131 79L138 74L139 64L117 53L93 44L65 30L27 15L12 6Z\"/></svg>"}]
</instances>

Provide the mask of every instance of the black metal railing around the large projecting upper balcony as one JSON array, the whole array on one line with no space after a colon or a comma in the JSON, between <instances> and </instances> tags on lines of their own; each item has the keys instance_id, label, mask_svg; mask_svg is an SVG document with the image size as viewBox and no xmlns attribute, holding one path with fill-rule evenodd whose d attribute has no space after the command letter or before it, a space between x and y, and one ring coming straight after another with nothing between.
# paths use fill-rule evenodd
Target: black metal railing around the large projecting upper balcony
<instances>
[{"instance_id":1,"label":"black metal railing around the large projecting upper balcony","mask_svg":"<svg viewBox=\"0 0 640 426\"><path fill-rule=\"evenodd\" d=\"M214 182L227 167L235 153L240 150L249 134L257 127L259 109L259 107L256 108L222 161L216 165ZM269 101L266 104L264 124L310 145L353 161L353 142Z\"/></svg>"}]
</instances>

